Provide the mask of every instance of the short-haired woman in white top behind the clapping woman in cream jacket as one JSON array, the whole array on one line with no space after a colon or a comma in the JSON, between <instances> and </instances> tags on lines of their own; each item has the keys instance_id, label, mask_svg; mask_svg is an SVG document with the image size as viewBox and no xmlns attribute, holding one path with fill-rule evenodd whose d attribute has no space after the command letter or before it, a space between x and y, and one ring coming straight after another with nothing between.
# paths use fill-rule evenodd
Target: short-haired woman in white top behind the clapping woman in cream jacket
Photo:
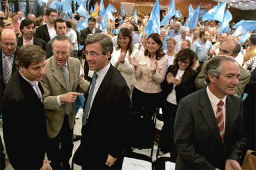
<instances>
[{"instance_id":1,"label":"short-haired woman in white top behind the clapping woman in cream jacket","mask_svg":"<svg viewBox=\"0 0 256 170\"><path fill-rule=\"evenodd\" d=\"M173 65L173 60L175 57L176 51L176 40L174 38L168 38L166 40L167 49L164 51L166 53L166 56L168 57L168 67L170 65Z\"/></svg>"}]
</instances>

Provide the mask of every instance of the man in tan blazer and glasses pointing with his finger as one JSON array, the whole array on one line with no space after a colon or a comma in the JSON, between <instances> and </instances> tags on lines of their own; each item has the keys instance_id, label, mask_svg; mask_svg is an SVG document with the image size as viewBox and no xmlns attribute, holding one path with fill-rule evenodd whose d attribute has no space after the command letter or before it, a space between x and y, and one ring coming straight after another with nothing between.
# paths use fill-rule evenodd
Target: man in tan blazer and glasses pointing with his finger
<instances>
[{"instance_id":1,"label":"man in tan blazer and glasses pointing with his finger","mask_svg":"<svg viewBox=\"0 0 256 170\"><path fill-rule=\"evenodd\" d=\"M80 61L70 57L72 42L67 36L53 40L53 56L46 60L43 86L48 133L47 155L53 169L70 169L75 100L86 93L88 82L81 78Z\"/></svg>"}]
</instances>

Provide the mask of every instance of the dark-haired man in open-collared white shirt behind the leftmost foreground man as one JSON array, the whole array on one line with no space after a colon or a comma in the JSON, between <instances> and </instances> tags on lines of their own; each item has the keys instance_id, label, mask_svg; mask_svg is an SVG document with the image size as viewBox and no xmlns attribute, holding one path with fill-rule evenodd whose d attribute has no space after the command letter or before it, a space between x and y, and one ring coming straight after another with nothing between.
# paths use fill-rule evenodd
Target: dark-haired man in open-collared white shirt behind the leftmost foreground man
<instances>
[{"instance_id":1,"label":"dark-haired man in open-collared white shirt behind the leftmost foreground man","mask_svg":"<svg viewBox=\"0 0 256 170\"><path fill-rule=\"evenodd\" d=\"M46 42L43 41L43 39L36 38L34 36L35 22L30 19L23 19L20 23L20 31L22 32L23 36L18 38L18 49L20 49L20 47L23 45L34 44L45 50Z\"/></svg>"}]
</instances>

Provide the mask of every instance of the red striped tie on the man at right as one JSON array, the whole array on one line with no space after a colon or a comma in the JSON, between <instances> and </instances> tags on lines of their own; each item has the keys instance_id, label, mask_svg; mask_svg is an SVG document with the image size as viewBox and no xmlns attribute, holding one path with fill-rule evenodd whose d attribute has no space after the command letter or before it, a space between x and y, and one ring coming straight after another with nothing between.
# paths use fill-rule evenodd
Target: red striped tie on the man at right
<instances>
[{"instance_id":1,"label":"red striped tie on the man at right","mask_svg":"<svg viewBox=\"0 0 256 170\"><path fill-rule=\"evenodd\" d=\"M217 123L218 123L218 127L220 130L220 136L221 136L221 142L224 142L224 117L223 117L223 105L224 102L222 100L220 100L220 102L218 103L218 109L217 109L217 114L216 114L216 119L217 119Z\"/></svg>"}]
</instances>

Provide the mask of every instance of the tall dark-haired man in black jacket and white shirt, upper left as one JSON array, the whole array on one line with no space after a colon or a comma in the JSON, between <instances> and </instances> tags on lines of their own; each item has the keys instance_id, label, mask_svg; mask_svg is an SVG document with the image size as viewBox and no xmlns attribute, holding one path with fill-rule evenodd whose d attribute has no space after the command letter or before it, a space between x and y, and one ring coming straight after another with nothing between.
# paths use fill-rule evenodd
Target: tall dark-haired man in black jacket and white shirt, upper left
<instances>
[{"instance_id":1,"label":"tall dark-haired man in black jacket and white shirt, upper left","mask_svg":"<svg viewBox=\"0 0 256 170\"><path fill-rule=\"evenodd\" d=\"M43 39L46 43L56 36L56 31L53 28L54 20L57 18L57 10L49 8L45 12L47 16L47 21L45 25L41 25L36 28L35 36L37 38Z\"/></svg>"}]
</instances>

